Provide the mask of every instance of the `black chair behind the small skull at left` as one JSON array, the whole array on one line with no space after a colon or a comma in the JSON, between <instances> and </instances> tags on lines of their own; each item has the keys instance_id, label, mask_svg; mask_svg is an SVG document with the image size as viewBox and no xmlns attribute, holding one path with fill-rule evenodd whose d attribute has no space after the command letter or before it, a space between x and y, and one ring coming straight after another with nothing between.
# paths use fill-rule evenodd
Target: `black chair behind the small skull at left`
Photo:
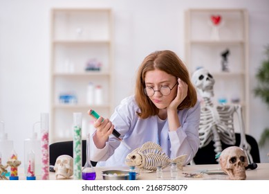
<instances>
[{"instance_id":1,"label":"black chair behind the small skull at left","mask_svg":"<svg viewBox=\"0 0 269 194\"><path fill-rule=\"evenodd\" d=\"M60 141L50 144L50 165L55 165L57 157L60 155L69 155L73 157L73 141ZM86 163L86 140L82 140L82 165ZM92 166L97 162L91 161Z\"/></svg>"}]
</instances>

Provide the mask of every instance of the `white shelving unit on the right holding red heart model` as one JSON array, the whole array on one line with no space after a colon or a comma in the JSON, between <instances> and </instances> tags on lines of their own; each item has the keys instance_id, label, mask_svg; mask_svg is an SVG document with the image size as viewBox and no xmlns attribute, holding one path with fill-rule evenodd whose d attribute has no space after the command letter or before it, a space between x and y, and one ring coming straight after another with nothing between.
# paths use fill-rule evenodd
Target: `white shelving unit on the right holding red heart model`
<instances>
[{"instance_id":1,"label":"white shelving unit on the right holding red heart model","mask_svg":"<svg viewBox=\"0 0 269 194\"><path fill-rule=\"evenodd\" d=\"M211 17L220 16L213 26ZM215 31L214 31L215 30ZM221 53L228 49L228 69L222 69ZM227 103L239 99L243 109L245 132L248 133L249 73L248 73L248 12L244 9L190 9L185 12L186 64L193 73L208 69L215 79L214 103L220 98ZM237 127L236 127L237 129ZM239 132L236 130L236 132Z\"/></svg>"}]
</instances>

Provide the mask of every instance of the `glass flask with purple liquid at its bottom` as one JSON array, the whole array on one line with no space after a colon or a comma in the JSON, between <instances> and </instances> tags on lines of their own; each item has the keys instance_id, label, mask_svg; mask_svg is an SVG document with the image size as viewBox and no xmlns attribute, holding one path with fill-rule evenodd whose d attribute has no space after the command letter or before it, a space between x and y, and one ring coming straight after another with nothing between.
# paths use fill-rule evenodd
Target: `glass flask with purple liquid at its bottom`
<instances>
[{"instance_id":1,"label":"glass flask with purple liquid at its bottom","mask_svg":"<svg viewBox=\"0 0 269 194\"><path fill-rule=\"evenodd\" d=\"M82 169L82 179L84 180L94 180L96 178L96 173L91 166L91 159L90 159L90 152L89 152L89 146L90 146L90 135L88 134L86 139L86 164L84 165L84 168Z\"/></svg>"}]
</instances>

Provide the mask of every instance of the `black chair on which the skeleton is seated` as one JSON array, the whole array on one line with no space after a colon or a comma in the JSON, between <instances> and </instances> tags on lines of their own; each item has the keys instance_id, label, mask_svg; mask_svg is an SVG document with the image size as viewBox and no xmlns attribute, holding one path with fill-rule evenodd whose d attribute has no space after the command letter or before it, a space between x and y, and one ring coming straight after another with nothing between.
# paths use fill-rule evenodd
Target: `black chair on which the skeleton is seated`
<instances>
[{"instance_id":1,"label":"black chair on which the skeleton is seated","mask_svg":"<svg viewBox=\"0 0 269 194\"><path fill-rule=\"evenodd\" d=\"M241 139L240 134L236 133L235 138L236 138L235 145L239 146L240 139ZM248 141L248 143L251 146L250 155L252 156L253 162L260 163L261 160L259 156L259 145L257 141L254 139L254 137L248 134L245 134L245 139ZM225 144L223 142L221 142L221 144L222 144L223 150L225 148L228 148L229 146L232 146L232 145ZM195 164L218 164L216 162L215 155L216 153L214 152L214 141L211 141L205 147L198 149L198 152L196 153L194 157L194 163Z\"/></svg>"}]
</instances>

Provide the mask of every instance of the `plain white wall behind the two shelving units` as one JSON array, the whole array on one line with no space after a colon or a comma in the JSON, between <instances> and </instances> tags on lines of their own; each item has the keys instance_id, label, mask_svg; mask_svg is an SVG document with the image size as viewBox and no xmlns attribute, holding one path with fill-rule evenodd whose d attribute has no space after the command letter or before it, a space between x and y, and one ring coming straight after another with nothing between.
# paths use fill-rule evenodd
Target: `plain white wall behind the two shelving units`
<instances>
[{"instance_id":1,"label":"plain white wall behind the two shelving units","mask_svg":"<svg viewBox=\"0 0 269 194\"><path fill-rule=\"evenodd\" d=\"M0 0L0 120L23 160L40 112L49 112L50 8L112 8L115 17L115 105L133 92L136 68L152 51L171 49L184 60L184 10L245 8L250 19L250 89L269 44L268 0ZM122 82L124 80L124 82ZM250 96L250 134L269 127L268 108ZM269 162L269 143L261 161Z\"/></svg>"}]
</instances>

